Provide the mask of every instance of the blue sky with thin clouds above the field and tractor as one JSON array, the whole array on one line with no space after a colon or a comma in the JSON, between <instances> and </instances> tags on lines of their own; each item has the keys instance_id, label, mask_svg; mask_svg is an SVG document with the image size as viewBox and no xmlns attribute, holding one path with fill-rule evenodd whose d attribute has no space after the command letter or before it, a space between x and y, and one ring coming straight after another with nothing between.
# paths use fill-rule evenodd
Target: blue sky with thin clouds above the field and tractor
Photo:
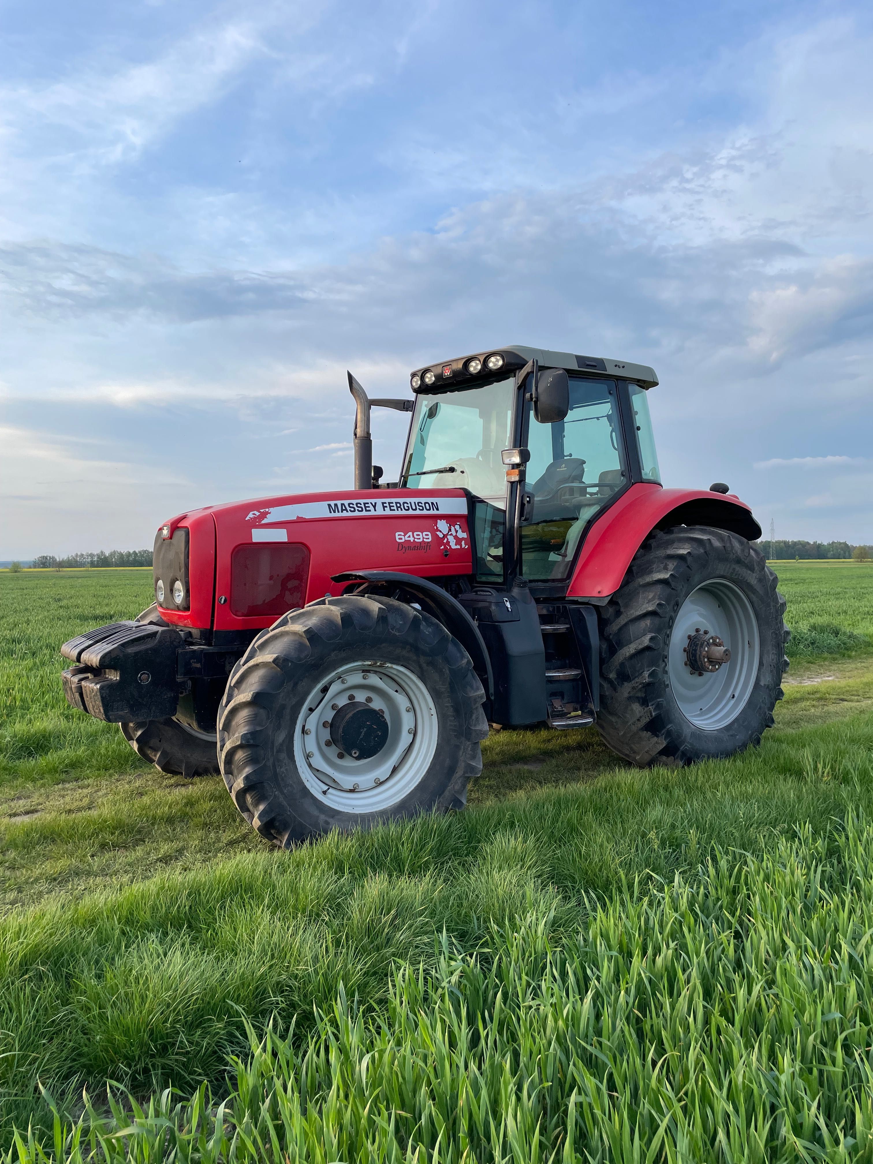
<instances>
[{"instance_id":1,"label":"blue sky with thin clouds above the field and tractor","mask_svg":"<svg viewBox=\"0 0 873 1164\"><path fill-rule=\"evenodd\" d=\"M872 57L852 0L0 0L0 559L350 488L347 368L505 343L873 542Z\"/></svg>"}]
</instances>

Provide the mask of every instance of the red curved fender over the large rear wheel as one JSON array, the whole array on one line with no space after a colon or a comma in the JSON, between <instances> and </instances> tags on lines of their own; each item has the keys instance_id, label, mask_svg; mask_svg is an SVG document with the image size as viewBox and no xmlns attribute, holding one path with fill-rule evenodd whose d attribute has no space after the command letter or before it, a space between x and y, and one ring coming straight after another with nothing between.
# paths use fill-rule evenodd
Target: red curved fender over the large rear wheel
<instances>
[{"instance_id":1,"label":"red curved fender over the large rear wheel","mask_svg":"<svg viewBox=\"0 0 873 1164\"><path fill-rule=\"evenodd\" d=\"M567 597L605 603L620 587L633 555L652 530L674 525L710 525L748 541L761 535L748 505L731 494L638 483L588 531Z\"/></svg>"}]
</instances>

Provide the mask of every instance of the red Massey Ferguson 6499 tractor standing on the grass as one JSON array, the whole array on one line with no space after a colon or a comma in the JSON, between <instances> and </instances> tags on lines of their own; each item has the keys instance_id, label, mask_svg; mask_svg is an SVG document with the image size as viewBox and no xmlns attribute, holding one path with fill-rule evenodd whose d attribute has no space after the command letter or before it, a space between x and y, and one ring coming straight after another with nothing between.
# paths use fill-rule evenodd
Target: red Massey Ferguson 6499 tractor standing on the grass
<instances>
[{"instance_id":1,"label":"red Massey Ferguson 6499 tractor standing on the grass","mask_svg":"<svg viewBox=\"0 0 873 1164\"><path fill-rule=\"evenodd\" d=\"M74 708L163 772L221 772L291 845L461 808L489 723L595 724L637 765L773 723L785 599L716 483L661 487L651 368L505 347L356 403L355 488L180 513L155 603L62 647ZM370 406L410 413L399 478Z\"/></svg>"}]
</instances>

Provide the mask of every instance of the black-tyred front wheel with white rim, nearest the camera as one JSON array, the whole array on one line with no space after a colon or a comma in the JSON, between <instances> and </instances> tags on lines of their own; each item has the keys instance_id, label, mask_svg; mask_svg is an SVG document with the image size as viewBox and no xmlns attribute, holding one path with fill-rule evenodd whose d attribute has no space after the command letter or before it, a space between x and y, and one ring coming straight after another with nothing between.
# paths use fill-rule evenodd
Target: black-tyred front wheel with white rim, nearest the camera
<instances>
[{"instance_id":1,"label":"black-tyred front wheel with white rim, nearest the camera","mask_svg":"<svg viewBox=\"0 0 873 1164\"><path fill-rule=\"evenodd\" d=\"M435 618L376 595L321 599L283 615L230 673L221 772L242 816L283 846L463 808L482 771L483 701L469 655ZM354 740L338 746L350 737L335 712L349 707L375 732L355 759Z\"/></svg>"}]
</instances>

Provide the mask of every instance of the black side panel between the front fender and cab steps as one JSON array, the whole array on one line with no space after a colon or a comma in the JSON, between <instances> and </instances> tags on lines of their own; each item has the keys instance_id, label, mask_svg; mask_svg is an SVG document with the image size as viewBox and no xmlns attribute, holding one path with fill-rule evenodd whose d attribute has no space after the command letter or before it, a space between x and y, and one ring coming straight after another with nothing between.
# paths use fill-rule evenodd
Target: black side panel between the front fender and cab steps
<instances>
[{"instance_id":1,"label":"black side panel between the front fender and cab steps","mask_svg":"<svg viewBox=\"0 0 873 1164\"><path fill-rule=\"evenodd\" d=\"M495 673L492 718L501 724L542 723L547 715L546 652L527 583L511 590L473 590L460 596L478 624Z\"/></svg>"}]
</instances>

